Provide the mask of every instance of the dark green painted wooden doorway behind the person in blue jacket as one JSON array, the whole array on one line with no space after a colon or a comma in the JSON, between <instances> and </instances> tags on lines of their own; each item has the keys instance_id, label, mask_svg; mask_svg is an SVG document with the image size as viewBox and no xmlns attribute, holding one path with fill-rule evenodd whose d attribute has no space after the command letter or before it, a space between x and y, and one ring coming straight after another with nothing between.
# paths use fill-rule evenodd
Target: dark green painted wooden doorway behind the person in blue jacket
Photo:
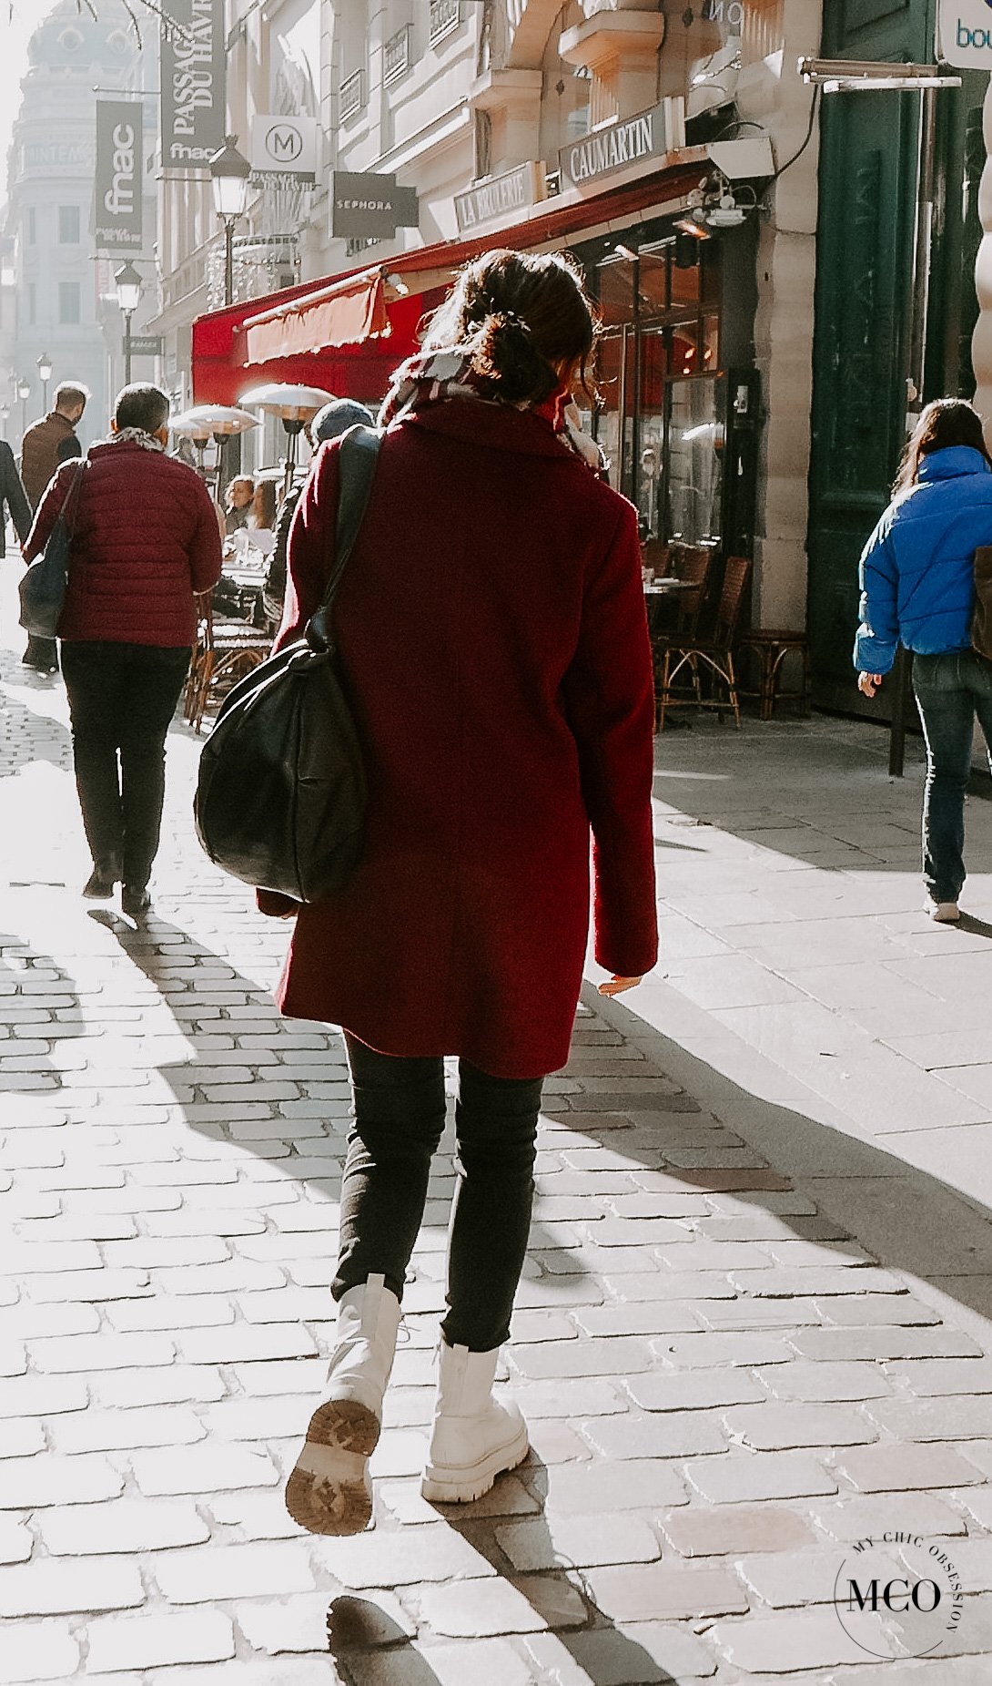
<instances>
[{"instance_id":1,"label":"dark green painted wooden doorway behind the person in blue jacket","mask_svg":"<svg viewBox=\"0 0 992 1686\"><path fill-rule=\"evenodd\" d=\"M827 0L824 57L933 59L933 0ZM972 282L980 238L985 78L938 94L936 216L925 396L970 396ZM888 711L851 666L857 558L904 443L920 96L832 94L822 103L813 334L808 631L822 706Z\"/></svg>"}]
</instances>

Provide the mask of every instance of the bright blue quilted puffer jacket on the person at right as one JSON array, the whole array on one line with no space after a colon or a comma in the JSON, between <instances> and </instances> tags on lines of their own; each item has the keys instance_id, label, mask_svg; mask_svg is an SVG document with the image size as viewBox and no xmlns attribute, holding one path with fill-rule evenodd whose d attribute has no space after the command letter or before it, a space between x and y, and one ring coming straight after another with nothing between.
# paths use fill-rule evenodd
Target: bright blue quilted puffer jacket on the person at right
<instances>
[{"instance_id":1,"label":"bright blue quilted puffer jacket on the person at right","mask_svg":"<svg viewBox=\"0 0 992 1686\"><path fill-rule=\"evenodd\" d=\"M992 545L992 469L970 445L935 450L861 555L861 673L888 673L899 642L921 656L968 649L979 545Z\"/></svg>"}]
</instances>

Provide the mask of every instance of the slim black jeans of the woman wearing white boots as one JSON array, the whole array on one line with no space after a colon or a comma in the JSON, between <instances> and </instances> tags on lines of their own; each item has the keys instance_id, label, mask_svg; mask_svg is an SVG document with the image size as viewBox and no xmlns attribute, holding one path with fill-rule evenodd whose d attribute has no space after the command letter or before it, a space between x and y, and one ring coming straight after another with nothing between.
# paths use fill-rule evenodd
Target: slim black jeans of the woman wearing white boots
<instances>
[{"instance_id":1,"label":"slim black jeans of the woman wearing white boots","mask_svg":"<svg viewBox=\"0 0 992 1686\"><path fill-rule=\"evenodd\" d=\"M445 1062L377 1054L345 1032L355 1121L340 1195L335 1300L381 1273L403 1298L445 1128ZM448 1345L490 1352L510 1334L527 1253L542 1079L458 1062L458 1184L448 1231Z\"/></svg>"}]
</instances>

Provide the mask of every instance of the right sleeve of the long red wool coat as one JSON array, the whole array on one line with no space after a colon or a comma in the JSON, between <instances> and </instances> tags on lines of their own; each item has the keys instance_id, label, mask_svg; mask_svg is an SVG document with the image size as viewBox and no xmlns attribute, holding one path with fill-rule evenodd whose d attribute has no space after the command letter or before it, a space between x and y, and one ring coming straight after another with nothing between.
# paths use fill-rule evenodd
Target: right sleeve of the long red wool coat
<instances>
[{"instance_id":1,"label":"right sleeve of the long red wool coat","mask_svg":"<svg viewBox=\"0 0 992 1686\"><path fill-rule=\"evenodd\" d=\"M653 676L637 511L586 580L576 656L564 679L593 828L596 959L637 978L659 956L652 835Z\"/></svg>"}]
</instances>

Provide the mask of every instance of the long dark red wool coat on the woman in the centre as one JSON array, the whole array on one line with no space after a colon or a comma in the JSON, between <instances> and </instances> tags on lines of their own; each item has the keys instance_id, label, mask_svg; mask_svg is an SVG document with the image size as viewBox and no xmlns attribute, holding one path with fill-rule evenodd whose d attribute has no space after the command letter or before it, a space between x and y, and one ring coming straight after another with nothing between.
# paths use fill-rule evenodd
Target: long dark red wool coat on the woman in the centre
<instances>
[{"instance_id":1,"label":"long dark red wool coat on the woman in the centre","mask_svg":"<svg viewBox=\"0 0 992 1686\"><path fill-rule=\"evenodd\" d=\"M325 445L290 534L280 646L323 592L337 469ZM556 1071L589 824L598 961L637 976L657 958L637 514L539 416L433 405L382 442L335 622L367 749L365 853L301 909L276 1000L386 1054Z\"/></svg>"}]
</instances>

